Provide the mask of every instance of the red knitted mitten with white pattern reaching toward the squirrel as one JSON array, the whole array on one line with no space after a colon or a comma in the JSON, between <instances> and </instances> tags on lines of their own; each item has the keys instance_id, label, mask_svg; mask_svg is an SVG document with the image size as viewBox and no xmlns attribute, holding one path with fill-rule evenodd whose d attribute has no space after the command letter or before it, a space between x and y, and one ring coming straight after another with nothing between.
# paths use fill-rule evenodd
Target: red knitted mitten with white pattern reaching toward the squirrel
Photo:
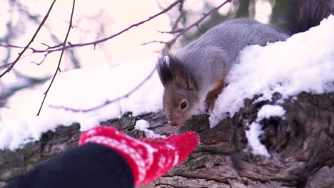
<instances>
[{"instance_id":1,"label":"red knitted mitten with white pattern reaching toward the squirrel","mask_svg":"<svg viewBox=\"0 0 334 188\"><path fill-rule=\"evenodd\" d=\"M93 127L81 135L79 145L98 143L118 151L128 162L136 185L161 177L184 160L198 145L196 132L171 135L166 139L136 140L113 127Z\"/></svg>"}]
</instances>

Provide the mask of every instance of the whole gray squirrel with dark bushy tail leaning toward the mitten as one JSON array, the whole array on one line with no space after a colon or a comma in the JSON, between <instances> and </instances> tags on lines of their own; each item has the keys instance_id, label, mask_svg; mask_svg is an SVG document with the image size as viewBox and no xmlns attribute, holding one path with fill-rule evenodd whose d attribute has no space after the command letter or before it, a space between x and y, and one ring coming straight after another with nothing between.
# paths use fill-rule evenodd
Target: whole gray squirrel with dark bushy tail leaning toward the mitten
<instances>
[{"instance_id":1,"label":"whole gray squirrel with dark bushy tail leaning toward the mitten","mask_svg":"<svg viewBox=\"0 0 334 188\"><path fill-rule=\"evenodd\" d=\"M164 88L163 110L168 122L172 126L183 125L198 112L213 110L216 98L226 85L226 75L244 47L285 41L291 34L317 26L330 15L328 8L323 7L326 13L312 17L310 10L317 12L319 9L312 9L311 1L319 4L319 1L330 0L298 1L298 9L289 14L290 17L298 16L288 22L287 25L291 24L288 31L253 19L233 19L209 29L175 55L159 58L157 71ZM295 23L298 26L293 26Z\"/></svg>"}]
</instances>

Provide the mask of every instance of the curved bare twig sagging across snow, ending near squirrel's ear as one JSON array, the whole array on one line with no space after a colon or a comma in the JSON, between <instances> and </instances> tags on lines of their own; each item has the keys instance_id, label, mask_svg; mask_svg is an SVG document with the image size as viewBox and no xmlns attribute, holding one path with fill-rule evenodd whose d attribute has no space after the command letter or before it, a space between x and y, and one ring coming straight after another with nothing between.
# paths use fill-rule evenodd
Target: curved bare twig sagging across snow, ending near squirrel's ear
<instances>
[{"instance_id":1,"label":"curved bare twig sagging across snow, ending near squirrel's ear","mask_svg":"<svg viewBox=\"0 0 334 188\"><path fill-rule=\"evenodd\" d=\"M132 93L136 92L136 90L138 90L139 88L141 88L141 86L144 83L146 83L146 81L149 80L152 77L154 71L156 71L156 68L153 68L153 70L148 74L148 76L144 80L141 81L141 83L139 83L138 85L136 85L135 88L133 88L132 90L128 91L128 93L126 93L125 95L121 95L120 97L114 98L113 100L106 100L106 102L104 102L101 105L97 105L96 107L88 108L88 109L77 109L77 108L69 108L69 107L59 106L59 105L49 105L49 108L61 109L61 110L71 111L71 112L74 112L74 113L88 113L88 112L91 112L93 110L98 110L100 108L105 107L106 105L109 105L111 103L115 103L118 100L121 100L123 98L128 98L128 96L130 96Z\"/></svg>"}]
</instances>

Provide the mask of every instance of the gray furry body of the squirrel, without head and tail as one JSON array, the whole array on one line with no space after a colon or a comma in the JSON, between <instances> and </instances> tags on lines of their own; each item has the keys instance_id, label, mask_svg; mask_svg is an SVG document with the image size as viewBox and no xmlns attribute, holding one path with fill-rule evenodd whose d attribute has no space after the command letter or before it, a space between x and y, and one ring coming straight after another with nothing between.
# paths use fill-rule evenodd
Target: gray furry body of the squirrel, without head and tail
<instances>
[{"instance_id":1,"label":"gray furry body of the squirrel, without head and tail","mask_svg":"<svg viewBox=\"0 0 334 188\"><path fill-rule=\"evenodd\" d=\"M199 93L205 97L212 89L212 83L227 75L239 51L245 46L265 46L267 43L285 41L288 37L278 28L252 19L233 19L211 28L175 56L192 71L193 80L201 88Z\"/></svg>"}]
</instances>

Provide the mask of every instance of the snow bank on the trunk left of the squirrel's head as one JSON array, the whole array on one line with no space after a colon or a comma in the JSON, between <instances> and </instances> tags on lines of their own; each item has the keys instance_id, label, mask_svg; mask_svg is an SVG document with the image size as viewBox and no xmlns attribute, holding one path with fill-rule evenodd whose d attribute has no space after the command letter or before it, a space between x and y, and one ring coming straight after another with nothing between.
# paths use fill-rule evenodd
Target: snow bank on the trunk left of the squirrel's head
<instances>
[{"instance_id":1,"label":"snow bank on the trunk left of the squirrel's head","mask_svg":"<svg viewBox=\"0 0 334 188\"><path fill-rule=\"evenodd\" d=\"M151 62L151 63L149 63ZM98 125L103 120L119 117L128 111L133 115L158 112L162 109L163 86L155 72L136 92L127 98L106 105L88 113L51 108L50 105L86 110L113 100L135 88L153 70L155 61L123 63L114 68L76 69L56 77L41 115L36 116L43 93L49 81L40 90L26 96L26 103L9 112L12 118L4 119L0 129L0 148L15 149L22 144L39 140L47 130L57 125L71 125L79 122L81 131Z\"/></svg>"}]
</instances>

